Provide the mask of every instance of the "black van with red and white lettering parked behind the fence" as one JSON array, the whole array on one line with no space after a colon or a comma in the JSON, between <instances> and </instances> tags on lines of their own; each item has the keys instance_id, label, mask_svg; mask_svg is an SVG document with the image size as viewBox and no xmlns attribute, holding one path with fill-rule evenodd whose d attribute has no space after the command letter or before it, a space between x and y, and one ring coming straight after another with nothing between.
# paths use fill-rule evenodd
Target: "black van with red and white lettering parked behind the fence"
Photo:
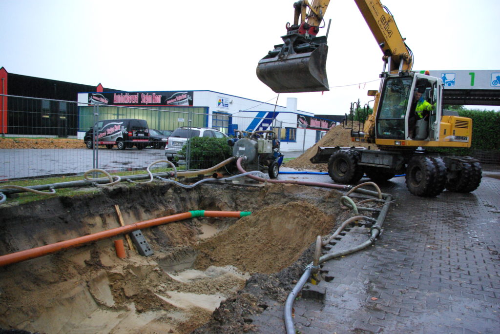
<instances>
[{"instance_id":1,"label":"black van with red and white lettering parked behind the fence","mask_svg":"<svg viewBox=\"0 0 500 334\"><path fill-rule=\"evenodd\" d=\"M106 119L96 124L97 145L112 148L114 145L120 150L137 147L141 150L148 145L149 128L143 119ZM93 148L93 127L83 137L87 148Z\"/></svg>"}]
</instances>

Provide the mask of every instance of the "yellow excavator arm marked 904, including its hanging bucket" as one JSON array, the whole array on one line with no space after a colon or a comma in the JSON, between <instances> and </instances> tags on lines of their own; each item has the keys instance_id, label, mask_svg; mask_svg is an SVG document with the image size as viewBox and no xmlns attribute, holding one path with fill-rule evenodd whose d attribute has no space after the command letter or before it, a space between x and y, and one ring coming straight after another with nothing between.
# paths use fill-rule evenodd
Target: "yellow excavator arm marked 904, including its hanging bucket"
<instances>
[{"instance_id":1,"label":"yellow excavator arm marked 904, including its hanging bucket","mask_svg":"<svg viewBox=\"0 0 500 334\"><path fill-rule=\"evenodd\" d=\"M296 1L293 24L286 24L283 44L275 45L257 65L257 77L276 93L325 91L328 88L324 27L329 0ZM354 0L383 53L384 71L410 70L411 50L389 10L379 0Z\"/></svg>"}]
</instances>

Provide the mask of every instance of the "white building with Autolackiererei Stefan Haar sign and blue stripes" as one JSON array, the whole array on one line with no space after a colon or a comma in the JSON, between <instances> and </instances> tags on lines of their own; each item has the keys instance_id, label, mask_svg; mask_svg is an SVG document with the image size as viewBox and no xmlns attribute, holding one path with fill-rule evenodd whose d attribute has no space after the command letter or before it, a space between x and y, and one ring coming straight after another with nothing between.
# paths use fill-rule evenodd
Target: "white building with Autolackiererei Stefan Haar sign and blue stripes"
<instances>
[{"instance_id":1,"label":"white building with Autolackiererei Stefan Haar sign and blue stripes","mask_svg":"<svg viewBox=\"0 0 500 334\"><path fill-rule=\"evenodd\" d=\"M282 151L309 148L336 124L297 110L296 98L287 98L286 106L280 106L211 90L87 92L79 93L77 100L79 138L91 126L88 116L94 103L99 105L99 119L140 118L159 130L212 127L228 135L236 130L273 130Z\"/></svg>"}]
</instances>

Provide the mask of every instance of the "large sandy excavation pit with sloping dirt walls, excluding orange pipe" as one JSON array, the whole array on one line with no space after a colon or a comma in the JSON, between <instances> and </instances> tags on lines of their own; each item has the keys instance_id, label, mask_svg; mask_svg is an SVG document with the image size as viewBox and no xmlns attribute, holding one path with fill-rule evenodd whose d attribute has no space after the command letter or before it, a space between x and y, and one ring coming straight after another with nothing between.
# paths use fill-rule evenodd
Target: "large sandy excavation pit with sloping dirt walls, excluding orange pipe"
<instances>
[{"instance_id":1,"label":"large sandy excavation pit with sloping dirt walls, excluding orange pipe","mask_svg":"<svg viewBox=\"0 0 500 334\"><path fill-rule=\"evenodd\" d=\"M40 333L189 333L226 299L258 313L241 293L251 282L283 302L312 259L317 235L345 216L342 193L291 184L115 185L97 194L53 197L0 209L0 254L53 244L191 210L250 211L197 217L141 230L153 255L122 235L0 268L0 328ZM116 256L123 240L126 257ZM293 268L290 270L290 268ZM256 292L257 293L257 292ZM220 315L217 315L220 317ZM248 321L234 319L239 330Z\"/></svg>"}]
</instances>

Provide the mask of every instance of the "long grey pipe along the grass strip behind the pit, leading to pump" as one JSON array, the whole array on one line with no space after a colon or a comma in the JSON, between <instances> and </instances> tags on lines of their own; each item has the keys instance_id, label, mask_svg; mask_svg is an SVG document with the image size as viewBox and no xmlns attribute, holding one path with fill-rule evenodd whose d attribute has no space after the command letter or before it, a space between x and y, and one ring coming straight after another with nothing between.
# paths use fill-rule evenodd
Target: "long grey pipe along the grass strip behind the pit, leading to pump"
<instances>
[{"instance_id":1,"label":"long grey pipe along the grass strip behind the pit, leading to pump","mask_svg":"<svg viewBox=\"0 0 500 334\"><path fill-rule=\"evenodd\" d=\"M207 169L201 169L201 170L196 170L196 171L185 171L185 172L177 172L177 176L194 176L194 175L200 175L200 174L211 174L213 171L217 170L218 168L223 167L224 165L227 165L228 163L234 161L236 159L235 157L230 157L217 165L207 168ZM155 162L154 162L155 163ZM151 163L149 166L153 165L154 163ZM153 173L154 176L165 176L169 177L171 175L170 172L162 172L162 173ZM126 179L125 179L126 178ZM130 175L130 176L122 176L121 181L129 181L129 180L144 180L150 178L150 175ZM59 182L59 183L52 183L52 184L44 184L44 185L38 185L38 186L28 186L28 187L21 187L21 186L9 186L9 185L0 185L0 191L4 195L10 195L10 194L15 194L15 193L22 193L22 192L31 192L31 190L36 190L36 191L42 191L42 190L50 190L50 193L44 193L42 192L41 194L43 195L52 195L55 193L53 189L62 189L62 188L72 188L72 187L88 187L89 185L93 184L99 184L99 185L110 185L110 182L112 182L112 179L110 180L109 178L98 178L98 179L89 179L89 180L80 180L80 181L69 181L69 182ZM34 191L32 191L34 192ZM40 194L40 193L38 193ZM4 202L4 200L2 201Z\"/></svg>"}]
</instances>

